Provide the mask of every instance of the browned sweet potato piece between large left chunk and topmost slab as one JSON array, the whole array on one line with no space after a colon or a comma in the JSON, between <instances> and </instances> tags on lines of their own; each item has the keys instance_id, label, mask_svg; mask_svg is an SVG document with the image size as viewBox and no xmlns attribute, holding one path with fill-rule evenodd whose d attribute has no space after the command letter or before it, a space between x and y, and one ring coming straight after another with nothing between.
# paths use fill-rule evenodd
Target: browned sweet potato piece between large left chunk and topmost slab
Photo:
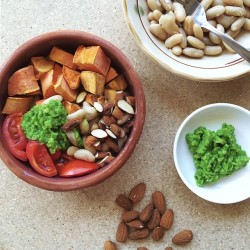
<instances>
[{"instance_id":1,"label":"browned sweet potato piece between large left chunk and topmost slab","mask_svg":"<svg viewBox=\"0 0 250 250\"><path fill-rule=\"evenodd\" d=\"M40 79L41 75L53 69L55 62L44 56L31 57L31 64L34 67L35 76Z\"/></svg>"}]
</instances>

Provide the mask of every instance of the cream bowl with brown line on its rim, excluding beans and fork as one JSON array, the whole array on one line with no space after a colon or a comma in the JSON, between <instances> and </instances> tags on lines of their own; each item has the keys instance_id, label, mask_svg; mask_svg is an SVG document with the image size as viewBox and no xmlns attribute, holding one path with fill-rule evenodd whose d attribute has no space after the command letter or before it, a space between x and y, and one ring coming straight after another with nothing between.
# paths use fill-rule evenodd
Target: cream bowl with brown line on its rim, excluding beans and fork
<instances>
[{"instance_id":1,"label":"cream bowl with brown line on its rim, excluding beans and fork","mask_svg":"<svg viewBox=\"0 0 250 250\"><path fill-rule=\"evenodd\" d=\"M151 1L152 2L152 1ZM159 1L156 1L156 3ZM131 34L139 47L164 69L187 79L203 82L218 82L236 79L250 73L250 64L238 54L223 50L217 56L191 58L175 56L164 42L149 31L147 1L123 0L124 13ZM250 49L249 31L241 31L237 41Z\"/></svg>"}]
</instances>

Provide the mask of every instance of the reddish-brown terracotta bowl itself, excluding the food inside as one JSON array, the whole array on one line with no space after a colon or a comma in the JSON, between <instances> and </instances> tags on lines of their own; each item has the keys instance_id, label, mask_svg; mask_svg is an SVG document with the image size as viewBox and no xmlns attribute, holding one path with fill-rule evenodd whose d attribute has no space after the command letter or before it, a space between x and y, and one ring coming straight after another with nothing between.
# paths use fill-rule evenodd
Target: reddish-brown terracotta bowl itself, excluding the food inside
<instances>
[{"instance_id":1,"label":"reddish-brown terracotta bowl itself, excluding the food inside","mask_svg":"<svg viewBox=\"0 0 250 250\"><path fill-rule=\"evenodd\" d=\"M23 163L14 158L6 149L2 133L0 133L0 157L17 177L36 187L51 191L70 191L94 186L118 171L133 153L140 138L145 119L145 97L141 81L128 58L114 45L104 39L90 33L81 31L55 31L49 32L25 42L9 59L0 70L0 110L3 109L7 98L7 83L9 77L18 69L26 66L32 56L48 55L53 46L58 46L67 51L75 51L78 45L100 45L116 70L122 73L129 86L129 91L135 96L136 110L134 126L126 144L118 156L94 173L82 177L48 178L35 172L28 163ZM4 116L0 115L0 129L2 131Z\"/></svg>"}]
</instances>

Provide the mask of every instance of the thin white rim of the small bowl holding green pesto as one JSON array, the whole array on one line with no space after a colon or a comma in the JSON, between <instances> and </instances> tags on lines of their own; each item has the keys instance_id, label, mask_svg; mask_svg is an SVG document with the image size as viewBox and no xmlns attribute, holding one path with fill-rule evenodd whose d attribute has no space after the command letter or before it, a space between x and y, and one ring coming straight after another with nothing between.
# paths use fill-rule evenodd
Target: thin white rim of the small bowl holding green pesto
<instances>
[{"instance_id":1,"label":"thin white rim of the small bowl holding green pesto","mask_svg":"<svg viewBox=\"0 0 250 250\"><path fill-rule=\"evenodd\" d=\"M196 116L198 113L201 113L203 112L204 110L208 110L208 109L213 109L215 107L227 107L227 108L233 108L233 109L236 109L240 112L243 112L243 113L246 113L246 115L250 116L250 111L244 107L241 107L239 105L236 105L236 104L232 104L232 103L226 103L226 102L219 102L219 103L211 103L211 104L207 104L207 105L204 105L202 107L199 107L198 109L194 110L193 112L191 112L184 120L183 122L181 123L181 125L179 126L177 132L176 132L176 135L175 135L175 139L174 139L174 146L173 146L173 158L174 158L174 164L175 164L175 168L177 170L177 173L179 174L181 180L183 181L183 183L188 187L188 189L190 191L192 191L195 195L199 196L200 198L204 199L204 200L207 200L209 202L212 202L212 203L216 203L216 204L233 204L233 203L238 203L238 202L241 202L241 201L244 201L246 199L249 199L250 198L250 193L248 195L246 195L245 197L243 198L240 198L240 199L234 199L234 200L231 200L231 201L224 201L224 202L219 202L218 200L216 199L211 199L211 198L207 198L205 195L202 195L201 193L199 193L197 191L197 188L193 188L193 186L186 180L186 177L184 176L183 172L181 171L181 168L178 164L178 156L177 156L177 144L180 140L180 135L183 131L183 128L187 125L187 123L189 121L192 120L192 118L194 116Z\"/></svg>"}]
</instances>

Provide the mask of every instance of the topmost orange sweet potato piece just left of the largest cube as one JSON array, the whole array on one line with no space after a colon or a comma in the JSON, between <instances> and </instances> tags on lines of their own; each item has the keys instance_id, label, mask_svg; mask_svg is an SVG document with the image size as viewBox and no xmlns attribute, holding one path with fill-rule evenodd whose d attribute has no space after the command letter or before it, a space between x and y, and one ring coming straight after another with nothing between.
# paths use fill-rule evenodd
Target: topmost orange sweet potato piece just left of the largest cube
<instances>
[{"instance_id":1,"label":"topmost orange sweet potato piece just left of the largest cube","mask_svg":"<svg viewBox=\"0 0 250 250\"><path fill-rule=\"evenodd\" d=\"M65 65L71 69L76 69L73 63L73 55L57 47L53 47L49 53L49 58L59 64Z\"/></svg>"}]
</instances>

